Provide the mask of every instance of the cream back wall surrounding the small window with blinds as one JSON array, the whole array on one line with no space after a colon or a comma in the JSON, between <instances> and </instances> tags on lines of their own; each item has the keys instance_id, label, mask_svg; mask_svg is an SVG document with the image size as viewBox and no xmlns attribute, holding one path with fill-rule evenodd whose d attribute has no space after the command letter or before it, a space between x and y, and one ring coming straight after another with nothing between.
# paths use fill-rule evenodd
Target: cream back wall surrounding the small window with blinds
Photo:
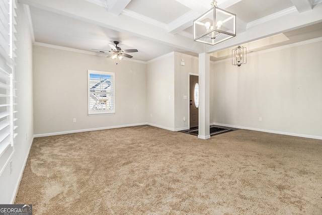
<instances>
[{"instance_id":1,"label":"cream back wall surrounding the small window with blinds","mask_svg":"<svg viewBox=\"0 0 322 215\"><path fill-rule=\"evenodd\" d=\"M33 59L36 136L146 123L145 63L39 45ZM115 73L115 114L88 116L88 69Z\"/></svg>"}]
</instances>

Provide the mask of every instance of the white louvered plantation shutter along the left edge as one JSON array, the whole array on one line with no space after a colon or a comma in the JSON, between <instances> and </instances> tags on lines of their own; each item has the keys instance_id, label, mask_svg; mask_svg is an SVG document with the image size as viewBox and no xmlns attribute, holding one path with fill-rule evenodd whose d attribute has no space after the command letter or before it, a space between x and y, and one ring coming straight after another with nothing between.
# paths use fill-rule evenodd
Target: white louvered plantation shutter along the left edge
<instances>
[{"instance_id":1,"label":"white louvered plantation shutter along the left edge","mask_svg":"<svg viewBox=\"0 0 322 215\"><path fill-rule=\"evenodd\" d=\"M14 146L16 89L14 80L14 42L16 2L0 1L0 157Z\"/></svg>"}]
</instances>

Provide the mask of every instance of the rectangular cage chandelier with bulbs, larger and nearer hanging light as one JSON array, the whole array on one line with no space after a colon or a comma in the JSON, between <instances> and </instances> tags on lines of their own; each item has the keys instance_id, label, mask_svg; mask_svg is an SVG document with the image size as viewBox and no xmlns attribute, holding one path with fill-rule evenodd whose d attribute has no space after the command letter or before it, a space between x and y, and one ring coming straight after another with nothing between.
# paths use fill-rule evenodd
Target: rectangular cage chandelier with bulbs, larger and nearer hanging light
<instances>
[{"instance_id":1,"label":"rectangular cage chandelier with bulbs, larger and nearer hanging light","mask_svg":"<svg viewBox=\"0 0 322 215\"><path fill-rule=\"evenodd\" d=\"M193 21L193 40L215 45L236 36L236 15L217 7L212 8Z\"/></svg>"}]
</instances>

